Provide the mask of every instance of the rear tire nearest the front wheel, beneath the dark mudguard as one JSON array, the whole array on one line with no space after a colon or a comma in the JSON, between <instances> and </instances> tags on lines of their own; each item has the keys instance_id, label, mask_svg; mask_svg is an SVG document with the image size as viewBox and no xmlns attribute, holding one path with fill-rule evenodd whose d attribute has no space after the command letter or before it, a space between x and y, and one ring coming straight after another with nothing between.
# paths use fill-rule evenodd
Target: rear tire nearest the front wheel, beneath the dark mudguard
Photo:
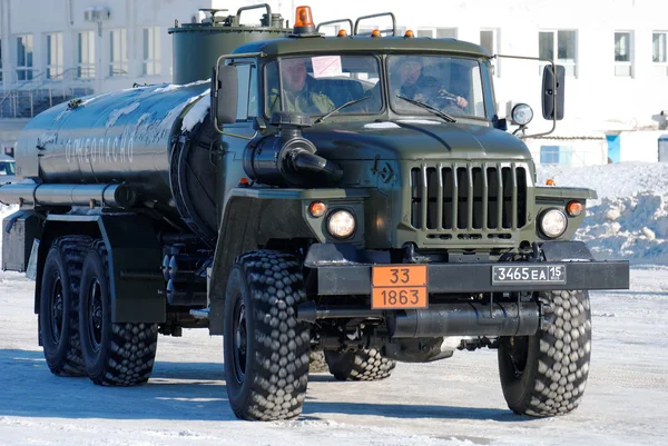
<instances>
[{"instance_id":1,"label":"rear tire nearest the front wheel, beneath the dark mudguard","mask_svg":"<svg viewBox=\"0 0 668 446\"><path fill-rule=\"evenodd\" d=\"M109 259L102 240L91 244L81 271L81 351L88 377L101 386L148 380L156 357L158 325L111 323Z\"/></svg>"}]
</instances>

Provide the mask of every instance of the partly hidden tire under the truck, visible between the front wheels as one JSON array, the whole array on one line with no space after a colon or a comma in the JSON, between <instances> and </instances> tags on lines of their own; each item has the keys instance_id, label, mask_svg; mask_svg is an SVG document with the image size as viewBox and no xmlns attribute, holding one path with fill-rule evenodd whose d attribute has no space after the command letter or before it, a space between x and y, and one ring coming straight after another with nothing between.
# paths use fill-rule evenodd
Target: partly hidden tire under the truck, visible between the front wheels
<instances>
[{"instance_id":1,"label":"partly hidden tire under the truck, visible between the front wheels","mask_svg":"<svg viewBox=\"0 0 668 446\"><path fill-rule=\"evenodd\" d=\"M325 350L325 359L334 378L345 381L375 381L389 378L396 363L384 358L375 348L357 351Z\"/></svg>"}]
</instances>

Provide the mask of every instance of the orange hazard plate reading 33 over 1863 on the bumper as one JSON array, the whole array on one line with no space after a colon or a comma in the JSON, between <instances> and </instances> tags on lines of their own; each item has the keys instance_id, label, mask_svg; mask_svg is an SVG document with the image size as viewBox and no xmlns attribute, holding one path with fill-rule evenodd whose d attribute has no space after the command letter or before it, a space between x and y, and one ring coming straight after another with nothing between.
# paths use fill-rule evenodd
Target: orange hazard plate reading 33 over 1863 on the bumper
<instances>
[{"instance_id":1,"label":"orange hazard plate reading 33 over 1863 on the bumper","mask_svg":"<svg viewBox=\"0 0 668 446\"><path fill-rule=\"evenodd\" d=\"M374 266L371 272L372 309L426 308L426 265Z\"/></svg>"}]
</instances>

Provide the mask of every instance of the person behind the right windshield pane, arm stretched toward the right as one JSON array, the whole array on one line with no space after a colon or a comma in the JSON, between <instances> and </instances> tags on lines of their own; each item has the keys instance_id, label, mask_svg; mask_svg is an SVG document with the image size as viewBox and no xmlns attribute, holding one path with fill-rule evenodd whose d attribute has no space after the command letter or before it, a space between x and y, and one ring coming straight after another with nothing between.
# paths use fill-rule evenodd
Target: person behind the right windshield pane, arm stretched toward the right
<instances>
[{"instance_id":1,"label":"person behind the right windshield pane, arm stretched toward the right","mask_svg":"<svg viewBox=\"0 0 668 446\"><path fill-rule=\"evenodd\" d=\"M443 98L460 109L464 109L469 105L466 99L448 91L436 78L424 76L420 58L400 58L396 60L393 83L396 77L399 77L401 83L396 93L409 99L431 105L434 100Z\"/></svg>"}]
</instances>

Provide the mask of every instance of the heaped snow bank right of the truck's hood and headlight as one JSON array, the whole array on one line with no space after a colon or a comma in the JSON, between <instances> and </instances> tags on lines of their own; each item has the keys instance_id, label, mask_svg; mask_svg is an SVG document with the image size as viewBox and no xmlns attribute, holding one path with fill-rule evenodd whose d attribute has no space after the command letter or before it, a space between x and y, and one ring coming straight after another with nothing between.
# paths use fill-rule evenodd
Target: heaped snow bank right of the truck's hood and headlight
<instances>
[{"instance_id":1,"label":"heaped snow bank right of the truck's hood and headlight","mask_svg":"<svg viewBox=\"0 0 668 446\"><path fill-rule=\"evenodd\" d=\"M668 165L538 166L538 184L598 192L576 234L599 259L668 264Z\"/></svg>"}]
</instances>

